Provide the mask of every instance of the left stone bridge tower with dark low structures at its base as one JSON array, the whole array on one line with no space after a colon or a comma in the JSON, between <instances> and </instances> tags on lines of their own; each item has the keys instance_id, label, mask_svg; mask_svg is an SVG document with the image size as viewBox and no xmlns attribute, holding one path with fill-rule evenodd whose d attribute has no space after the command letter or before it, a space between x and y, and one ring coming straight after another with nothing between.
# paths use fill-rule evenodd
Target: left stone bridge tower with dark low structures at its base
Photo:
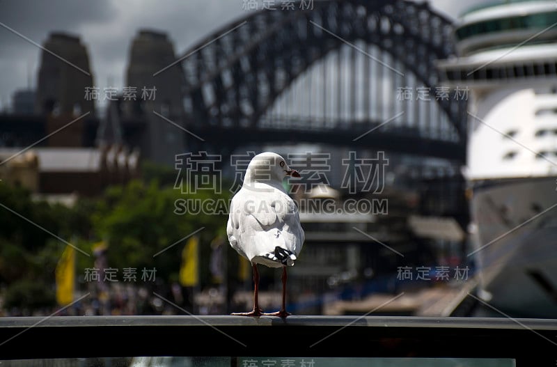
<instances>
[{"instance_id":1,"label":"left stone bridge tower with dark low structures at its base","mask_svg":"<svg viewBox=\"0 0 557 367\"><path fill-rule=\"evenodd\" d=\"M84 95L93 85L87 49L65 33L51 33L43 46L37 90L17 91L12 113L0 115L0 146L92 147L99 121Z\"/></svg>"}]
</instances>

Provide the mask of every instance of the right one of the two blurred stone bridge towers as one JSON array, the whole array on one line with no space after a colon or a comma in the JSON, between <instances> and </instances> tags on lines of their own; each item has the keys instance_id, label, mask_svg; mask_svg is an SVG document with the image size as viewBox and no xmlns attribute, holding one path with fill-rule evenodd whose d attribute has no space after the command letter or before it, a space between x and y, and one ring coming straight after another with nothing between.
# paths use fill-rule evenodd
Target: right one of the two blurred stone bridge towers
<instances>
[{"instance_id":1,"label":"right one of the two blurred stone bridge towers","mask_svg":"<svg viewBox=\"0 0 557 367\"><path fill-rule=\"evenodd\" d=\"M174 164L185 143L179 127L183 72L166 33L141 30L132 41L126 86L117 101L107 107L99 139L138 147L154 162ZM161 117L162 116L162 117Z\"/></svg>"}]
</instances>

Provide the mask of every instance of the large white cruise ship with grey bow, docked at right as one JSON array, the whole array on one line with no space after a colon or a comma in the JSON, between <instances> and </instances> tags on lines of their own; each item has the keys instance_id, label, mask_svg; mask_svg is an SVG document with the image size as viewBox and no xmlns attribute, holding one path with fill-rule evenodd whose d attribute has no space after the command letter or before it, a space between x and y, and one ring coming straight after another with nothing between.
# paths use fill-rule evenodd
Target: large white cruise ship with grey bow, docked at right
<instances>
[{"instance_id":1,"label":"large white cruise ship with grey bow, docked at right","mask_svg":"<svg viewBox=\"0 0 557 367\"><path fill-rule=\"evenodd\" d=\"M557 318L557 3L496 1L457 20L444 83L468 87L469 253L502 315Z\"/></svg>"}]
</instances>

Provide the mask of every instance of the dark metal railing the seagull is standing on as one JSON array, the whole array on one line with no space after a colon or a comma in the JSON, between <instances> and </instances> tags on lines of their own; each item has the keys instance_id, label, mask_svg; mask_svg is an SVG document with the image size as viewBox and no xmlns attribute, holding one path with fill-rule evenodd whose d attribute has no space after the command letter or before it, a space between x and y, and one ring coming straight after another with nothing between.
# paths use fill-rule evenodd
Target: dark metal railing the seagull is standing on
<instances>
[{"instance_id":1,"label":"dark metal railing the seagull is standing on","mask_svg":"<svg viewBox=\"0 0 557 367\"><path fill-rule=\"evenodd\" d=\"M137 356L515 359L555 366L557 320L389 316L0 318L0 364ZM346 364L350 366L350 364Z\"/></svg>"}]
</instances>

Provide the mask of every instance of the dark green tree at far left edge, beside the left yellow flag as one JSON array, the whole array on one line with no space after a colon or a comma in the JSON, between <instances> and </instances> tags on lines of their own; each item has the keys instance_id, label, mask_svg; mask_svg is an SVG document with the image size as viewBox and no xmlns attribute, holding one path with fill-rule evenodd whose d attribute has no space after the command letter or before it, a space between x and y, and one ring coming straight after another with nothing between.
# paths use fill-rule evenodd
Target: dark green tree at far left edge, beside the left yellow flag
<instances>
[{"instance_id":1,"label":"dark green tree at far left edge, beside the left yellow flag","mask_svg":"<svg viewBox=\"0 0 557 367\"><path fill-rule=\"evenodd\" d=\"M28 190L1 183L0 203L0 284L6 287L6 306L54 306L56 263L65 241L89 231L89 214L33 200Z\"/></svg>"}]
</instances>

